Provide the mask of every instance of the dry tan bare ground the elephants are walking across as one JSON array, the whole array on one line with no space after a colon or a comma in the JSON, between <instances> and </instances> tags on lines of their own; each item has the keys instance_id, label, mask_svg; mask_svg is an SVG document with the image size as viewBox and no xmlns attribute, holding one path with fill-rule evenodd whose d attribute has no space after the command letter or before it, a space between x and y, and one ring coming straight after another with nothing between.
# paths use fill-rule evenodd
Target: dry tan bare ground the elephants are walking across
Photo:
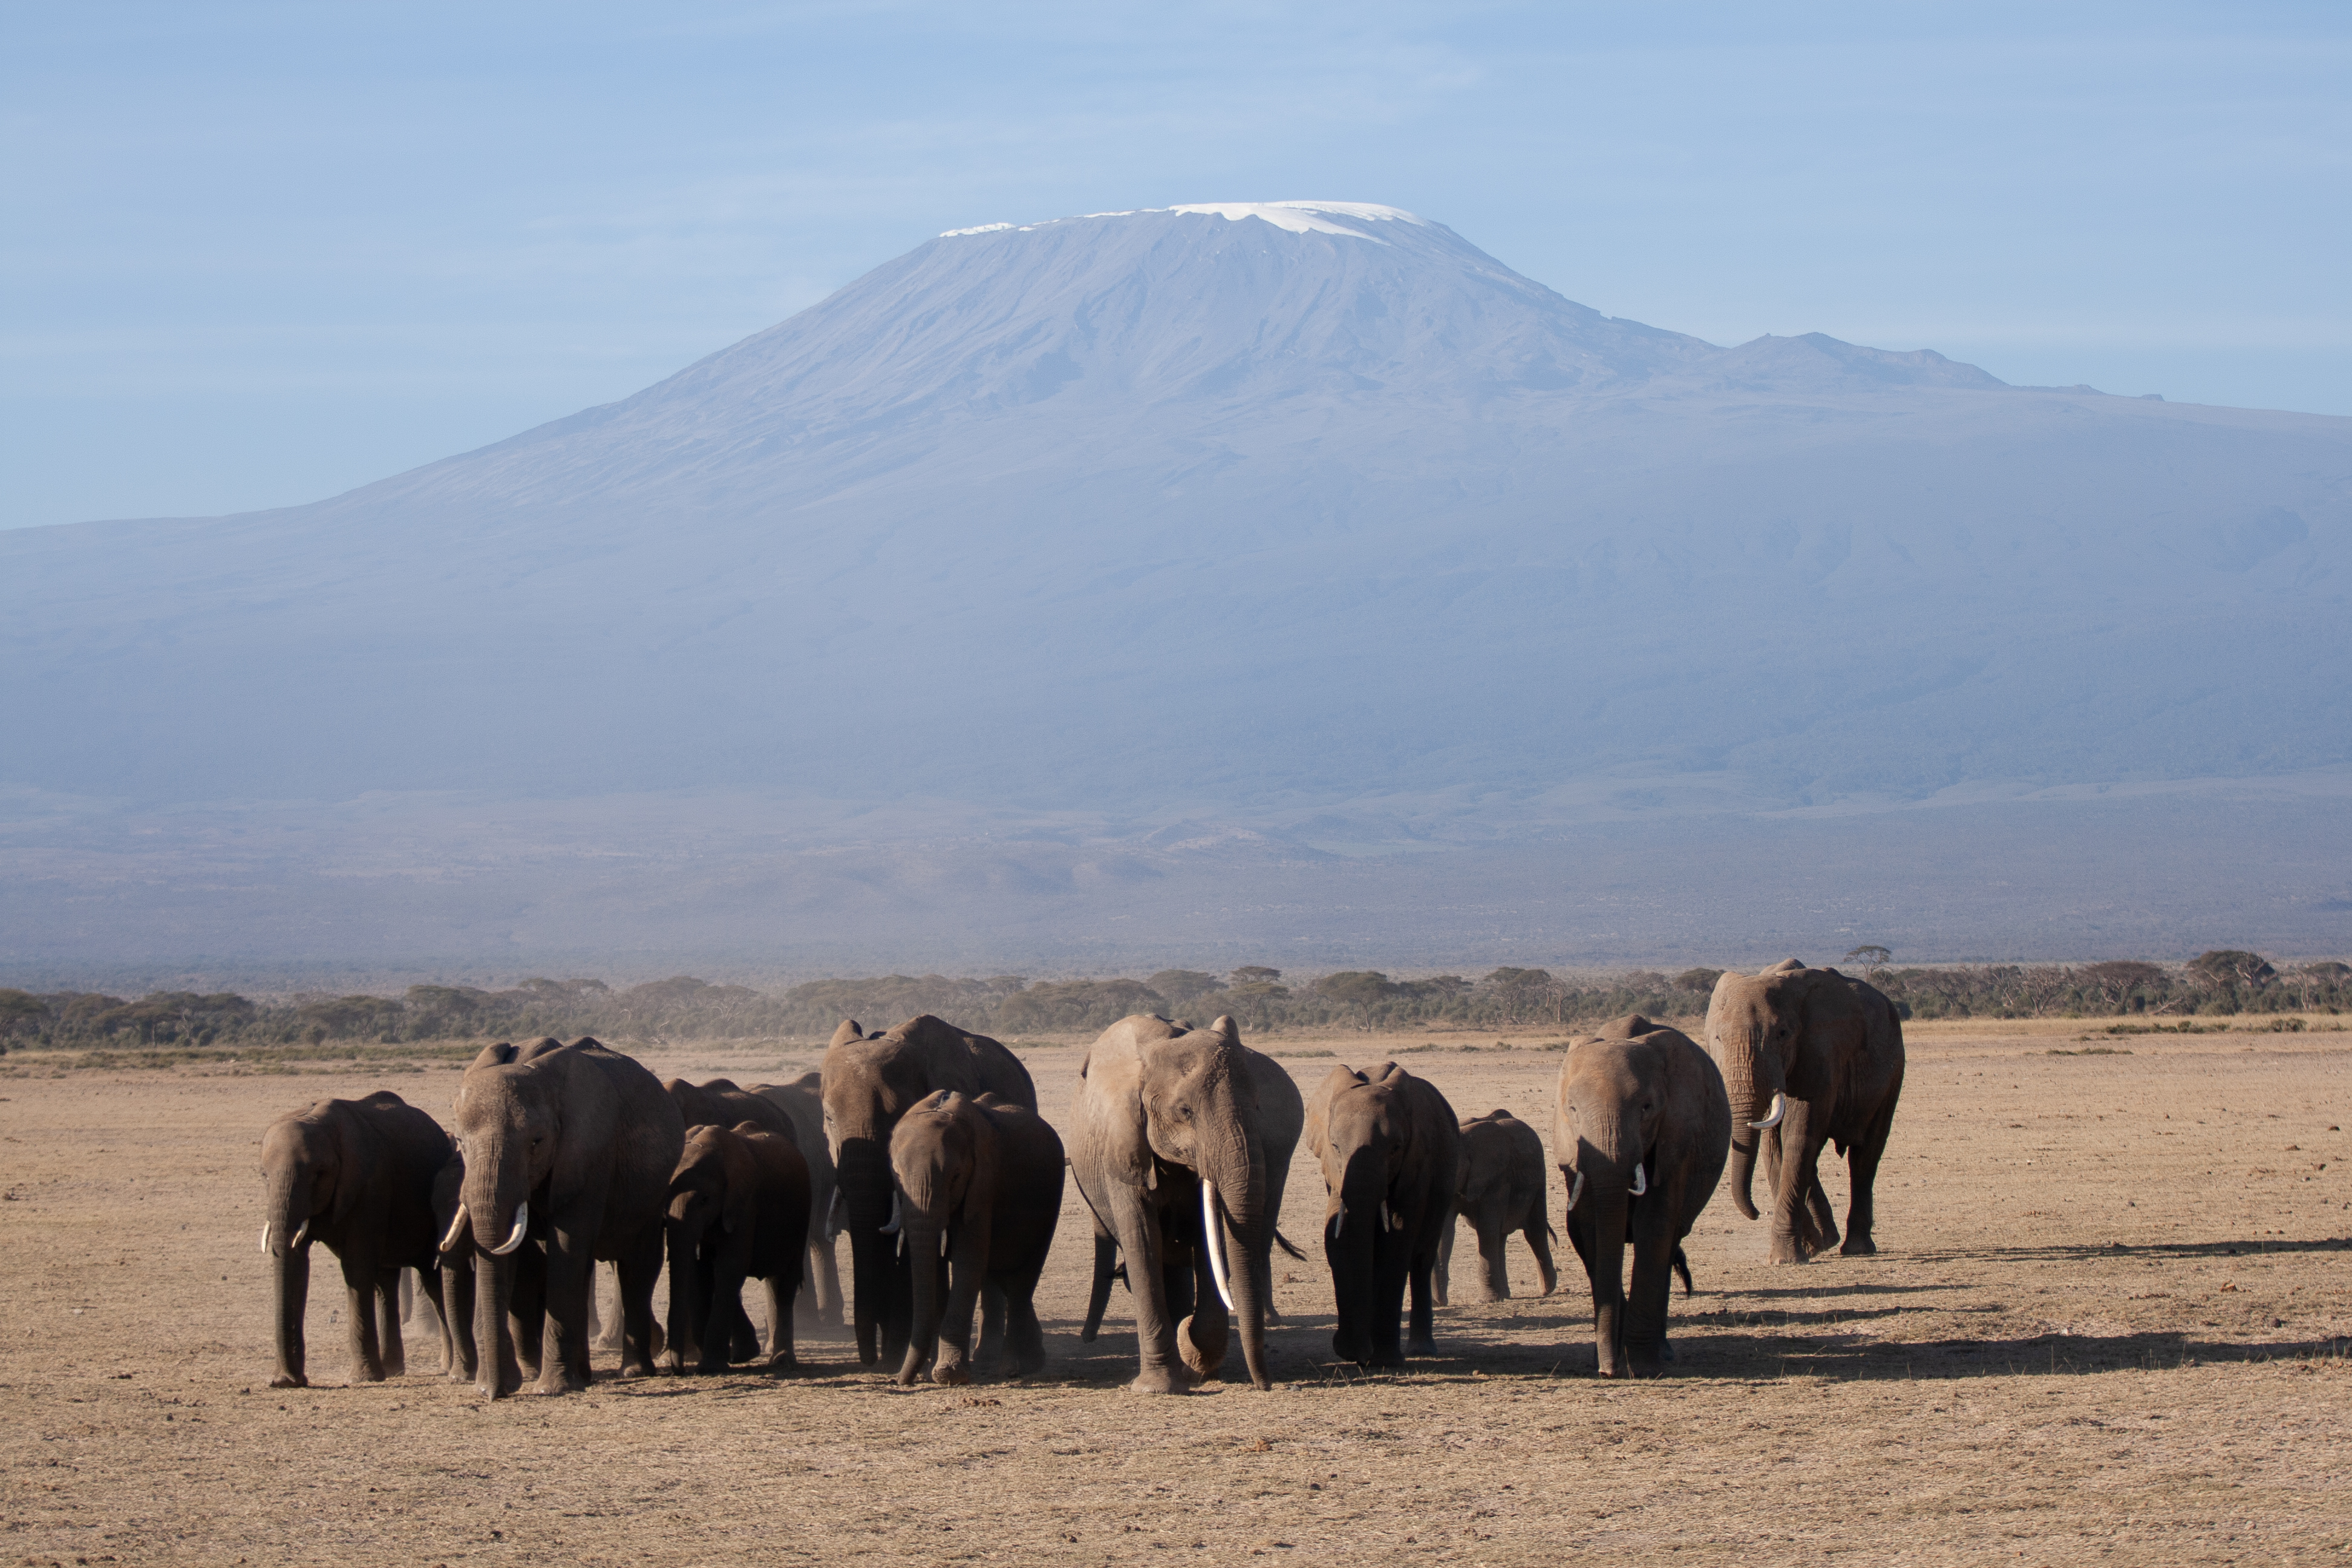
<instances>
[{"instance_id":1,"label":"dry tan bare ground the elephants are walking across","mask_svg":"<svg viewBox=\"0 0 2352 1568\"><path fill-rule=\"evenodd\" d=\"M2333 1025L2336 1020L2314 1020ZM2089 1037L2089 1039L2086 1039ZM1442 1039L1439 1051L1416 1051ZM435 1375L266 1387L261 1128L456 1072L52 1072L0 1060L0 1563L2305 1563L2352 1554L2352 1034L1910 1025L1870 1260L1766 1267L1719 1192L1675 1300L1679 1368L1592 1375L1590 1300L1439 1312L1442 1356L1331 1366L1319 1258L1277 1258L1282 1385L1145 1399L1124 1295L1077 1342L1063 1215L1035 1385L901 1392L844 1338L769 1378L485 1403ZM1461 1114L1548 1133L1557 1056L1456 1037L1279 1039L1310 1086L1399 1056ZM1536 1041L1517 1041L1531 1046ZM2112 1056L2060 1051L2114 1048ZM1319 1056L1329 1051L1331 1056ZM814 1051L663 1048L781 1077ZM1044 1110L1082 1046L1023 1048ZM1844 1215L1844 1171L1825 1164ZM1552 1182L1552 1215L1559 1182ZM1317 1237L1301 1164L1284 1232ZM1515 1244L1517 1248L1517 1244ZM847 1248L844 1248L847 1253ZM1456 1248L1456 1291L1475 1244ZM757 1295L757 1293L753 1293ZM1235 1354L1235 1363L1240 1354Z\"/></svg>"}]
</instances>

